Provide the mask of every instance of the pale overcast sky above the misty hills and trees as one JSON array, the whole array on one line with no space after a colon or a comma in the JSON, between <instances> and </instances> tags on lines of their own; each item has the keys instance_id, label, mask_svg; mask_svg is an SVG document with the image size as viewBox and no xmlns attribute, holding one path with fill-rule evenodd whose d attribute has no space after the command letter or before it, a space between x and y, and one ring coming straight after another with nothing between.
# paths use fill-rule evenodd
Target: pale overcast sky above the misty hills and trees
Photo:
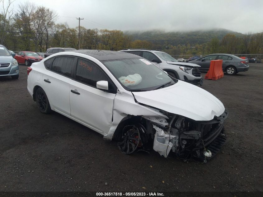
<instances>
[{"instance_id":1,"label":"pale overcast sky above the misty hills and trees","mask_svg":"<svg viewBox=\"0 0 263 197\"><path fill-rule=\"evenodd\" d=\"M7 0L5 0L7 1ZM263 0L29 0L57 11L57 23L110 30L263 31ZM14 9L25 0L16 0Z\"/></svg>"}]
</instances>

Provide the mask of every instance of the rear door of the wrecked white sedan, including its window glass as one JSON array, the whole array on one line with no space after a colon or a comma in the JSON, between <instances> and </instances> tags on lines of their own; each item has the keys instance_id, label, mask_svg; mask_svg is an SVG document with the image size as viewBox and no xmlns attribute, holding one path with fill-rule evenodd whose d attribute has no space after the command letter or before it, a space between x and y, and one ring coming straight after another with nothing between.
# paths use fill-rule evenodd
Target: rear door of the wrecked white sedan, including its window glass
<instances>
[{"instance_id":1,"label":"rear door of the wrecked white sedan, including its window glass","mask_svg":"<svg viewBox=\"0 0 263 197\"><path fill-rule=\"evenodd\" d=\"M44 90L54 110L70 116L69 87L72 70L77 58L56 56L45 61L47 71L43 74Z\"/></svg>"}]
</instances>

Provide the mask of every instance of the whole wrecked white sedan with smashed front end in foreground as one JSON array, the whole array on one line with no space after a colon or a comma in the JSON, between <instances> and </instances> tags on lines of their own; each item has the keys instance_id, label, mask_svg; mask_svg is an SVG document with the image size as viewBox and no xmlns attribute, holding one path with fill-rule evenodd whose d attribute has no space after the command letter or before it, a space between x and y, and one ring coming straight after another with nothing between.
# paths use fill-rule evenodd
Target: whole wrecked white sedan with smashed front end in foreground
<instances>
[{"instance_id":1,"label":"whole wrecked white sedan with smashed front end in foreground","mask_svg":"<svg viewBox=\"0 0 263 197\"><path fill-rule=\"evenodd\" d=\"M61 52L32 64L27 74L40 112L54 110L118 140L124 154L151 147L164 157L171 151L206 162L226 139L221 101L134 54Z\"/></svg>"}]
</instances>

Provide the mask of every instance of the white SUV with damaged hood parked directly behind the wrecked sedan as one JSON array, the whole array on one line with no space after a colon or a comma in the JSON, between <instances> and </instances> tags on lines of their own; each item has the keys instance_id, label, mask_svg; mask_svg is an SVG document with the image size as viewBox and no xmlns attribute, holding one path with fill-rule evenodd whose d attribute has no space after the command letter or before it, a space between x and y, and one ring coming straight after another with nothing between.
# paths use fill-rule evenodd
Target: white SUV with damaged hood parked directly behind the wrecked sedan
<instances>
[{"instance_id":1,"label":"white SUV with damaged hood parked directly behind the wrecked sedan","mask_svg":"<svg viewBox=\"0 0 263 197\"><path fill-rule=\"evenodd\" d=\"M171 55L157 50L123 49L121 52L139 55L176 79L195 85L203 84L203 78L199 70L200 66L197 64L178 62Z\"/></svg>"}]
</instances>

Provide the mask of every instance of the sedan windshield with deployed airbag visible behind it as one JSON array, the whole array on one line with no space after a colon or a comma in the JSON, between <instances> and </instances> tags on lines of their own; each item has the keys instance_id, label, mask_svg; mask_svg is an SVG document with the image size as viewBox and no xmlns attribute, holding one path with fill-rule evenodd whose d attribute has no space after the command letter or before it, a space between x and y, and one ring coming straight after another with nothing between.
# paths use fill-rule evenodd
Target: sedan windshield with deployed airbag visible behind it
<instances>
[{"instance_id":1,"label":"sedan windshield with deployed airbag visible behind it","mask_svg":"<svg viewBox=\"0 0 263 197\"><path fill-rule=\"evenodd\" d=\"M146 59L115 59L102 63L128 91L150 91L177 82Z\"/></svg>"}]
</instances>

